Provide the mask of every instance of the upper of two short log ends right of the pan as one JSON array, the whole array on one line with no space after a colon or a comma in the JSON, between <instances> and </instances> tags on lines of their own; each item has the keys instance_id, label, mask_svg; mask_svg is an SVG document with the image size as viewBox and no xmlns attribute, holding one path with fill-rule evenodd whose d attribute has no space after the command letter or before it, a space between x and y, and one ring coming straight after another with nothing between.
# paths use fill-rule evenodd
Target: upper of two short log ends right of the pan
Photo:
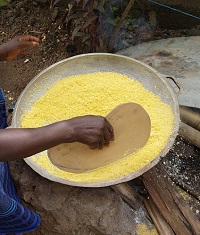
<instances>
[{"instance_id":1,"label":"upper of two short log ends right of the pan","mask_svg":"<svg viewBox=\"0 0 200 235\"><path fill-rule=\"evenodd\" d=\"M189 107L180 105L179 108L182 122L200 131L200 114Z\"/></svg>"}]
</instances>

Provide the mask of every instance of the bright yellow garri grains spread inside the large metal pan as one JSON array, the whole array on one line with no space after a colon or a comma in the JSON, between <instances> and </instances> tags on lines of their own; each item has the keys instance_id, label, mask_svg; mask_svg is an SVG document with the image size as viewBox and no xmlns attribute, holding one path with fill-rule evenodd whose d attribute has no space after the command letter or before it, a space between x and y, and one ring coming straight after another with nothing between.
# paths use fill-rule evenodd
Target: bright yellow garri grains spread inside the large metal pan
<instances>
[{"instance_id":1,"label":"bright yellow garri grains spread inside the large metal pan","mask_svg":"<svg viewBox=\"0 0 200 235\"><path fill-rule=\"evenodd\" d=\"M147 144L132 156L81 174L58 169L49 161L46 151L32 156L32 162L53 176L84 183L120 178L144 167L164 148L173 129L174 115L169 105L126 75L99 72L64 78L54 83L22 116L21 125L24 128L39 127L87 114L106 116L125 102L142 105L151 119Z\"/></svg>"}]
</instances>

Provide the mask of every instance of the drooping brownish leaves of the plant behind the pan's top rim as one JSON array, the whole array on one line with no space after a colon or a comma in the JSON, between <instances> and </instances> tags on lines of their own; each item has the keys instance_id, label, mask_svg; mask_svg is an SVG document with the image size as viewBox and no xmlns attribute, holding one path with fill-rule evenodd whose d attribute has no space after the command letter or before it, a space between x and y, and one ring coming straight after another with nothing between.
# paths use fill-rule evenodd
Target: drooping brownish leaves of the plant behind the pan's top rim
<instances>
[{"instance_id":1,"label":"drooping brownish leaves of the plant behind the pan's top rim","mask_svg":"<svg viewBox=\"0 0 200 235\"><path fill-rule=\"evenodd\" d=\"M105 0L73 0L68 5L64 24L68 29L73 28L71 39L79 37L91 51L105 51L105 43L96 33L99 18L105 13L104 4Z\"/></svg>"}]
</instances>

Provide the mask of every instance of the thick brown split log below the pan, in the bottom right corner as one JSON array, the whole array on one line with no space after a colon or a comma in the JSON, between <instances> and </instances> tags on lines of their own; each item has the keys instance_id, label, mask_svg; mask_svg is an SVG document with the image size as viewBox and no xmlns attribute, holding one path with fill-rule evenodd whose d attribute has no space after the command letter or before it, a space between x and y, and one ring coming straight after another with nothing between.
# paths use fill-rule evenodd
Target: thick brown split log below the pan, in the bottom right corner
<instances>
[{"instance_id":1,"label":"thick brown split log below the pan, in the bottom right corner","mask_svg":"<svg viewBox=\"0 0 200 235\"><path fill-rule=\"evenodd\" d=\"M199 235L200 222L161 164L143 175L143 183L175 234Z\"/></svg>"}]
</instances>

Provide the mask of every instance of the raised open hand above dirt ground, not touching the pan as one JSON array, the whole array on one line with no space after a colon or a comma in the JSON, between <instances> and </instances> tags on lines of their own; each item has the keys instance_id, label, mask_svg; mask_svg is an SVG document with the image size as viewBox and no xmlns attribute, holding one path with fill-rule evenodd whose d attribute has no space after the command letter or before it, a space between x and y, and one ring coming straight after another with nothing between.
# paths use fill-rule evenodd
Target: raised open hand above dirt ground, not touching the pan
<instances>
[{"instance_id":1,"label":"raised open hand above dirt ground, not touching the pan","mask_svg":"<svg viewBox=\"0 0 200 235\"><path fill-rule=\"evenodd\" d=\"M0 47L1 57L5 60L13 60L19 55L25 54L24 49L33 48L39 45L39 38L26 35L13 38Z\"/></svg>"}]
</instances>

